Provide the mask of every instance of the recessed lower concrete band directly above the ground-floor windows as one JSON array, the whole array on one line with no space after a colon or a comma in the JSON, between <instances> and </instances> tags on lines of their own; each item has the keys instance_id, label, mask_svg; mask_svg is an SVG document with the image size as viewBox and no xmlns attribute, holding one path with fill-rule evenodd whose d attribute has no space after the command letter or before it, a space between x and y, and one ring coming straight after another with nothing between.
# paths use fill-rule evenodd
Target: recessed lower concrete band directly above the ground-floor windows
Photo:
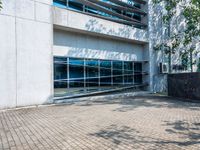
<instances>
[{"instance_id":1,"label":"recessed lower concrete band directly above the ground-floor windows","mask_svg":"<svg viewBox=\"0 0 200 150\"><path fill-rule=\"evenodd\" d=\"M142 61L144 45L75 32L54 30L54 55Z\"/></svg>"}]
</instances>

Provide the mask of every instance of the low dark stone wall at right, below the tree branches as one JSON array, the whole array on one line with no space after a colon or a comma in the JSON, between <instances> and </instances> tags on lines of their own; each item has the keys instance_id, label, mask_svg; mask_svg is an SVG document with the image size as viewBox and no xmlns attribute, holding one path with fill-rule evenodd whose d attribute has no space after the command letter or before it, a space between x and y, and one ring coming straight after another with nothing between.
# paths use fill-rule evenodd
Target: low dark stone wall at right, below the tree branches
<instances>
[{"instance_id":1,"label":"low dark stone wall at right, below the tree branches","mask_svg":"<svg viewBox=\"0 0 200 150\"><path fill-rule=\"evenodd\" d=\"M169 74L168 95L200 100L200 73Z\"/></svg>"}]
</instances>

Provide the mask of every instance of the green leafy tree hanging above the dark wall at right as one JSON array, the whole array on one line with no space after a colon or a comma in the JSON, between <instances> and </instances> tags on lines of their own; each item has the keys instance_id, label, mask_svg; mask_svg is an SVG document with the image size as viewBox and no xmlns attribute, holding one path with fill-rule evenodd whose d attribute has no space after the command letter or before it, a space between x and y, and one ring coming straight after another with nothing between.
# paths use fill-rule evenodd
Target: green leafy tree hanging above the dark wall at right
<instances>
[{"instance_id":1,"label":"green leafy tree hanging above the dark wall at right","mask_svg":"<svg viewBox=\"0 0 200 150\"><path fill-rule=\"evenodd\" d=\"M163 43L155 46L155 50L164 49L165 54L168 54L169 72L171 73L171 57L176 52L180 45L184 47L182 55L190 58L189 64L191 71L196 60L193 60L193 55L197 55L199 51L195 51L194 43L199 42L200 37L200 1L191 0L185 3L182 8L182 16L185 19L185 29L178 30L178 33L171 31L171 18L173 18L178 10L178 5L185 0L153 0L154 4L164 3L166 14L163 16L165 25L168 26L168 39ZM195 54L194 54L195 53ZM181 56L182 57L182 56Z\"/></svg>"}]
</instances>

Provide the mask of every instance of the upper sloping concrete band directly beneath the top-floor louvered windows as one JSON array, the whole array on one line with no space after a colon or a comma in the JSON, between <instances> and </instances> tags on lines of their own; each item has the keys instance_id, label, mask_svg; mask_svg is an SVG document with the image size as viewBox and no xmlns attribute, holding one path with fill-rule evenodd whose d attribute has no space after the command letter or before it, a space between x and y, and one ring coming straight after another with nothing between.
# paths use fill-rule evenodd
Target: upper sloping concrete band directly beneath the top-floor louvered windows
<instances>
[{"instance_id":1,"label":"upper sloping concrete band directly beneath the top-floor louvered windows","mask_svg":"<svg viewBox=\"0 0 200 150\"><path fill-rule=\"evenodd\" d=\"M148 42L147 30L133 28L58 7L53 7L53 23L57 26L75 30L90 31L137 42Z\"/></svg>"}]
</instances>

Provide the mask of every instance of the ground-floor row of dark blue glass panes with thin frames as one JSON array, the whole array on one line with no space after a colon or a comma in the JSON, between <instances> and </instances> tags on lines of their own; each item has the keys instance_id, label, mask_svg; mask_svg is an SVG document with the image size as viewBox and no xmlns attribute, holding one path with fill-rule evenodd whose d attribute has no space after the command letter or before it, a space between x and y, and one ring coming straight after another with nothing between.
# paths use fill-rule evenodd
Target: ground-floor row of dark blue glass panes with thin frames
<instances>
[{"instance_id":1,"label":"ground-floor row of dark blue glass panes with thin frames","mask_svg":"<svg viewBox=\"0 0 200 150\"><path fill-rule=\"evenodd\" d=\"M54 57L55 96L143 85L142 62Z\"/></svg>"}]
</instances>

